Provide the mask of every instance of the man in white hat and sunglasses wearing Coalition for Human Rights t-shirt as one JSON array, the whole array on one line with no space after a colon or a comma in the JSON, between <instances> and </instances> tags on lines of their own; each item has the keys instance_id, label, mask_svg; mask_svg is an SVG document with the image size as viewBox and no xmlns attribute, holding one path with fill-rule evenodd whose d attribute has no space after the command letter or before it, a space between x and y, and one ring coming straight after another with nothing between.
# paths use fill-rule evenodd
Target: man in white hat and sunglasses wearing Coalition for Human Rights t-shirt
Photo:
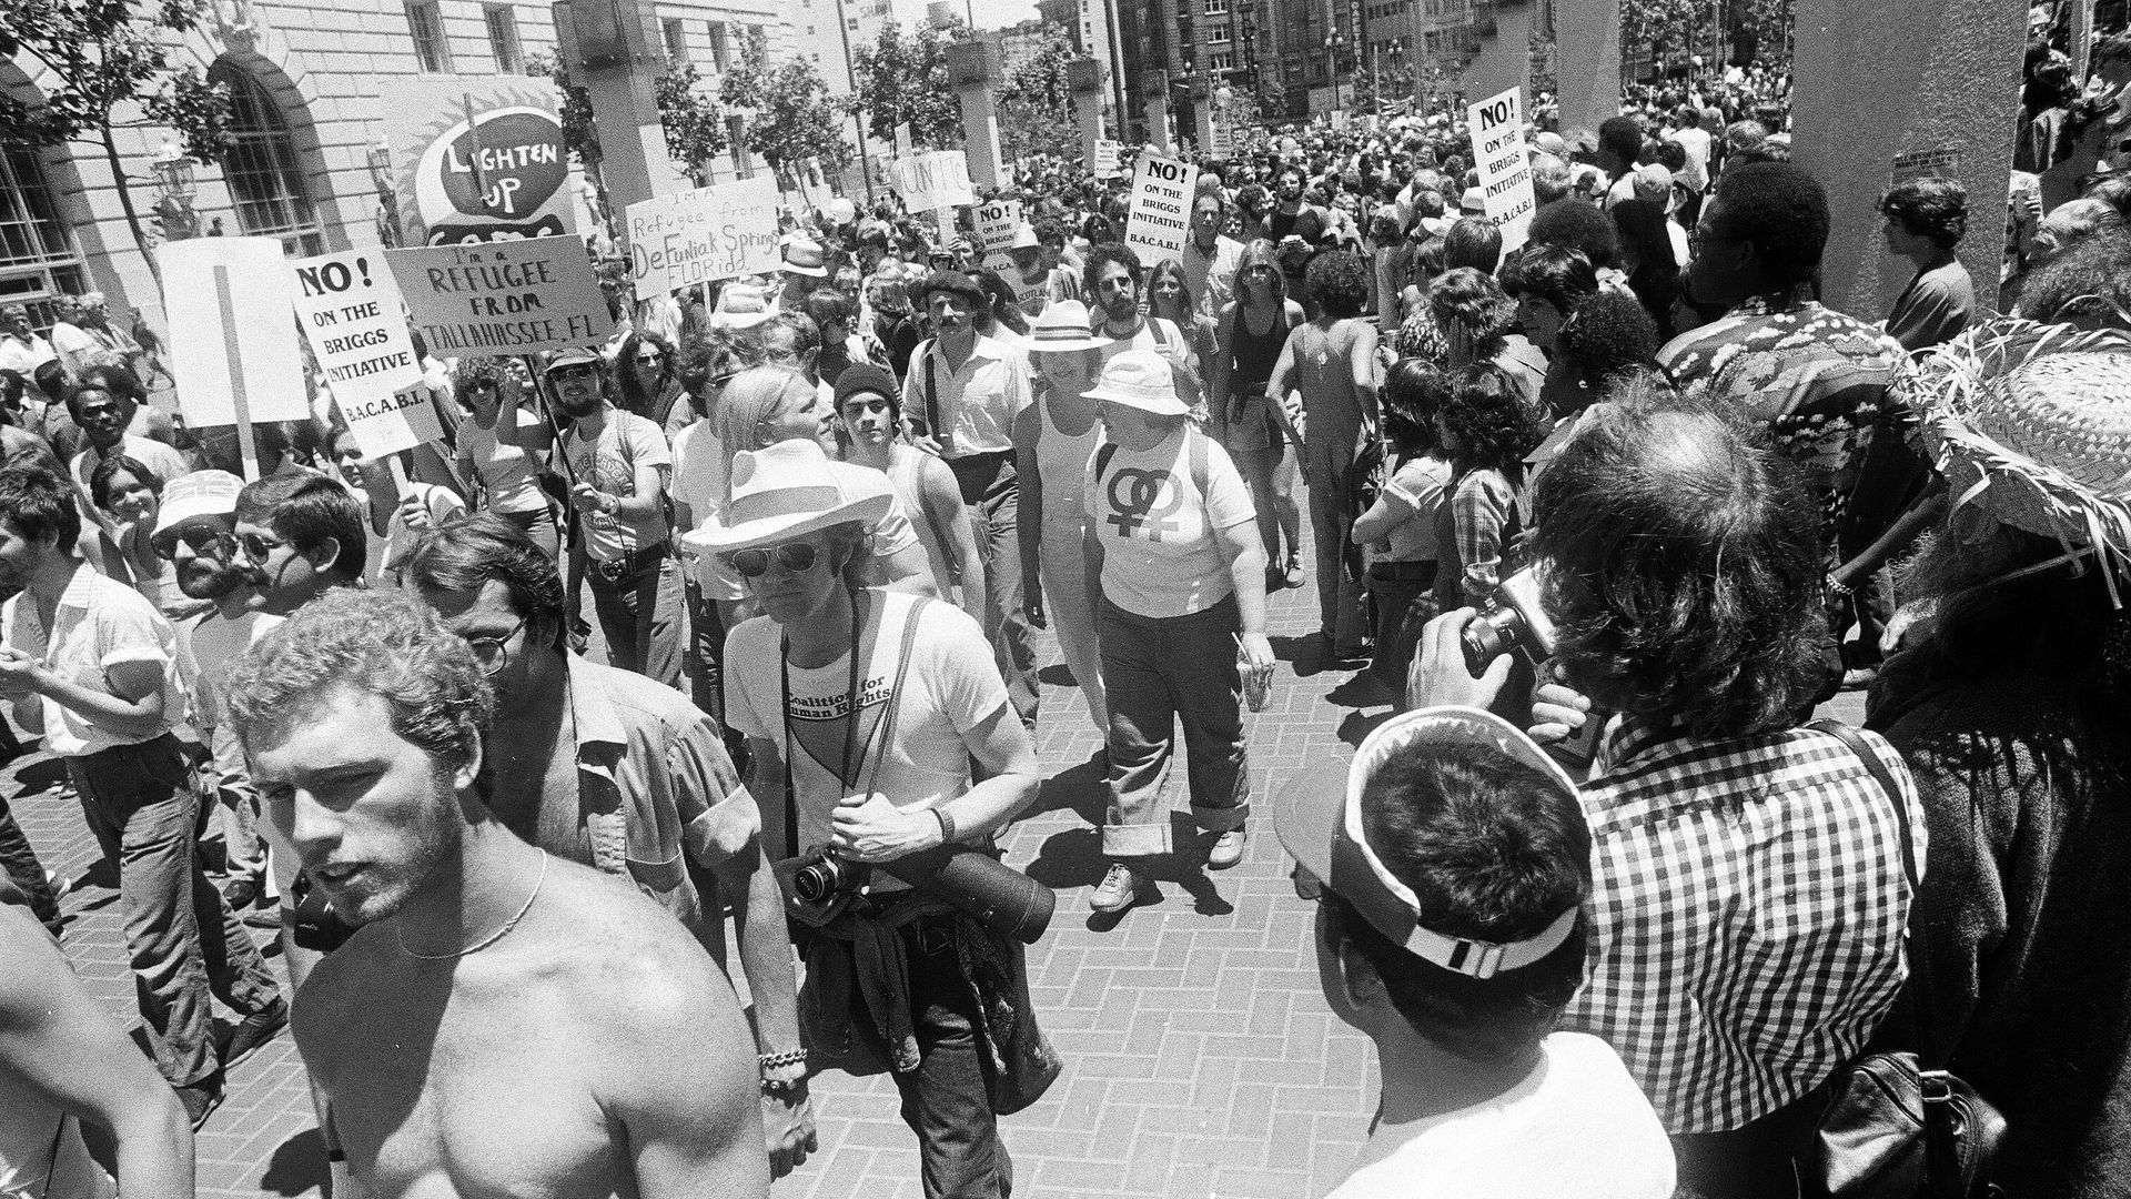
<instances>
[{"instance_id":1,"label":"man in white hat and sunglasses wearing Coalition for Human Rights t-shirt","mask_svg":"<svg viewBox=\"0 0 2131 1199\"><path fill-rule=\"evenodd\" d=\"M1059 1073L1019 943L1051 896L989 853L1036 800L1036 749L974 619L848 582L886 495L844 491L806 439L735 454L731 480L688 540L763 612L727 640L727 719L808 964L808 1067L893 1071L929 1199L1010 1195L997 1116Z\"/></svg>"}]
</instances>

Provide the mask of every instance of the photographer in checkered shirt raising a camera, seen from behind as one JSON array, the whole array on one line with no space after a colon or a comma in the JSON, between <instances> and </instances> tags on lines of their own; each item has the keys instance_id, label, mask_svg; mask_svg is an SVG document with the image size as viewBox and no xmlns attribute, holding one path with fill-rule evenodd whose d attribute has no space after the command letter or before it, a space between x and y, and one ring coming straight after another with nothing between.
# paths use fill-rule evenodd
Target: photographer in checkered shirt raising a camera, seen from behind
<instances>
[{"instance_id":1,"label":"photographer in checkered shirt raising a camera, seen from behind","mask_svg":"<svg viewBox=\"0 0 2131 1199\"><path fill-rule=\"evenodd\" d=\"M1620 713L1579 789L1592 975L1562 1026L1620 1052L1683 1188L1794 1195L1809 1092L1858 1056L1905 975L1903 821L1924 862L1894 751L1854 734L1899 798L1843 738L1801 728L1824 676L1820 514L1762 435L1637 397L1590 412L1532 512L1536 589L1507 580L1498 602L1536 600L1547 621L1434 619L1409 702L1485 706L1507 655L1475 672L1473 642L1543 657L1532 642L1551 640L1534 738Z\"/></svg>"}]
</instances>

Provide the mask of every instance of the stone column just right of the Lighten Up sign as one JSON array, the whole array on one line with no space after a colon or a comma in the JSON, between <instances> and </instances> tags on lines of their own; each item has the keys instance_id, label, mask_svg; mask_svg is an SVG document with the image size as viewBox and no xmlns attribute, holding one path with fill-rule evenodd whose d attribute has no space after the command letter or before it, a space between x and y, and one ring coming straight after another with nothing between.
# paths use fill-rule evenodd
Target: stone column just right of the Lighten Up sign
<instances>
[{"instance_id":1,"label":"stone column just right of the Lighten Up sign","mask_svg":"<svg viewBox=\"0 0 2131 1199\"><path fill-rule=\"evenodd\" d=\"M652 6L641 0L558 0L554 32L571 79L592 100L601 130L599 177L622 224L629 205L684 192L695 183L667 158L665 126L652 79L663 43L652 30Z\"/></svg>"}]
</instances>

